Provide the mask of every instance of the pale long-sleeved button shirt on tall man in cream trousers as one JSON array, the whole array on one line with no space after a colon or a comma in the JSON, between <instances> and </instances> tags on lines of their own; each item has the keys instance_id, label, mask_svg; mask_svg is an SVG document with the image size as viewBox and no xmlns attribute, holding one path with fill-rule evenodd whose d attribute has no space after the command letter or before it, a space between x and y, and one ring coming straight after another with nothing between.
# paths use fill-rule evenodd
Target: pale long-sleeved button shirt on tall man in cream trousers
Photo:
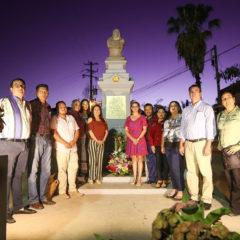
<instances>
[{"instance_id":1,"label":"pale long-sleeved button shirt on tall man in cream trousers","mask_svg":"<svg viewBox=\"0 0 240 240\"><path fill-rule=\"evenodd\" d=\"M213 109L207 103L199 101L183 109L181 138L194 140L206 138L213 140L216 135L216 123Z\"/></svg>"}]
</instances>

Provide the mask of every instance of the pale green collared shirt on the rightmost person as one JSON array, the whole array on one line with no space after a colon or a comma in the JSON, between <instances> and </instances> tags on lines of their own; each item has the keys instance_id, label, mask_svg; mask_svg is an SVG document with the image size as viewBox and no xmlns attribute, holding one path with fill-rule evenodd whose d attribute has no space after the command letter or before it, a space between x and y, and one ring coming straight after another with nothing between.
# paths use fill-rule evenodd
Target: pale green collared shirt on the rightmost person
<instances>
[{"instance_id":1,"label":"pale green collared shirt on the rightmost person","mask_svg":"<svg viewBox=\"0 0 240 240\"><path fill-rule=\"evenodd\" d=\"M236 106L230 113L226 110L217 116L219 149L240 144L240 109Z\"/></svg>"}]
</instances>

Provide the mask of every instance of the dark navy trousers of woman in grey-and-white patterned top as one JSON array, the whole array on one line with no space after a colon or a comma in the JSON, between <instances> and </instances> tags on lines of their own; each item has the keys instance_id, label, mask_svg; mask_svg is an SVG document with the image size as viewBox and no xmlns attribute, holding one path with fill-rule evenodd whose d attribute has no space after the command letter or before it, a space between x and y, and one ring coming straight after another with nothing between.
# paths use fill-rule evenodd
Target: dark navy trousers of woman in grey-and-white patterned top
<instances>
[{"instance_id":1,"label":"dark navy trousers of woman in grey-and-white patterned top","mask_svg":"<svg viewBox=\"0 0 240 240\"><path fill-rule=\"evenodd\" d=\"M179 154L178 147L165 147L170 168L172 187L178 191L184 190L184 158Z\"/></svg>"}]
</instances>

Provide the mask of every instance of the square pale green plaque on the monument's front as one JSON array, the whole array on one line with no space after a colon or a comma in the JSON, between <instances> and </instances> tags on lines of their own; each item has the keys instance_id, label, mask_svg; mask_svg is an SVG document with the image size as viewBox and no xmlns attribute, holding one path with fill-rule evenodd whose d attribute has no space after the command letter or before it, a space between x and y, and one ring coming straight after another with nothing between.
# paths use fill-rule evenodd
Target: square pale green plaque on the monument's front
<instances>
[{"instance_id":1,"label":"square pale green plaque on the monument's front","mask_svg":"<svg viewBox=\"0 0 240 240\"><path fill-rule=\"evenodd\" d=\"M107 96L107 119L126 119L126 96Z\"/></svg>"}]
</instances>

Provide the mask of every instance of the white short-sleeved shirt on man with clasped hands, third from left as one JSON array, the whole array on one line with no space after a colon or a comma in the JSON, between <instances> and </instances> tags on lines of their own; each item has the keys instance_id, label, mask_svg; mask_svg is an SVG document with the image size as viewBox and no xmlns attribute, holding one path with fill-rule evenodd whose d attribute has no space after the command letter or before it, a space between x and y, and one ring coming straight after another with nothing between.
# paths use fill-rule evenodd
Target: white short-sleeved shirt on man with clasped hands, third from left
<instances>
[{"instance_id":1,"label":"white short-sleeved shirt on man with clasped hands, third from left","mask_svg":"<svg viewBox=\"0 0 240 240\"><path fill-rule=\"evenodd\" d=\"M60 137L66 142L74 139L75 132L79 129L73 116L67 115L66 119L54 116L51 121L51 129L57 130ZM56 150L60 152L77 152L77 144L72 148L66 148L62 143L56 141Z\"/></svg>"}]
</instances>

